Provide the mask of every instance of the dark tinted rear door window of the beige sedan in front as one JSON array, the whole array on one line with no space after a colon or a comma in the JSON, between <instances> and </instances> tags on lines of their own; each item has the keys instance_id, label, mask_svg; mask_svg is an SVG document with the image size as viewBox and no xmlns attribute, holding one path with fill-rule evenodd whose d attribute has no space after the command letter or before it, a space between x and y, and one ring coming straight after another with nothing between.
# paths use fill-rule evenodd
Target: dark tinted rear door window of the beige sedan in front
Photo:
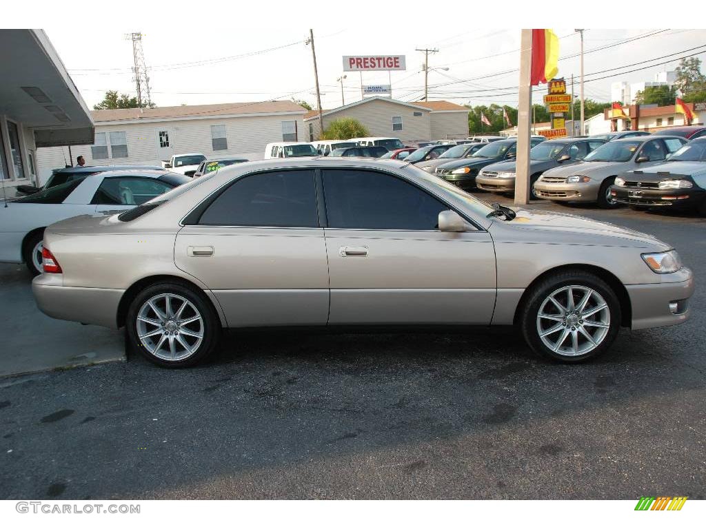
<instances>
[{"instance_id":1,"label":"dark tinted rear door window of the beige sedan in front","mask_svg":"<svg viewBox=\"0 0 706 529\"><path fill-rule=\"evenodd\" d=\"M236 180L203 212L208 226L318 226L313 171L277 171Z\"/></svg>"}]
</instances>

